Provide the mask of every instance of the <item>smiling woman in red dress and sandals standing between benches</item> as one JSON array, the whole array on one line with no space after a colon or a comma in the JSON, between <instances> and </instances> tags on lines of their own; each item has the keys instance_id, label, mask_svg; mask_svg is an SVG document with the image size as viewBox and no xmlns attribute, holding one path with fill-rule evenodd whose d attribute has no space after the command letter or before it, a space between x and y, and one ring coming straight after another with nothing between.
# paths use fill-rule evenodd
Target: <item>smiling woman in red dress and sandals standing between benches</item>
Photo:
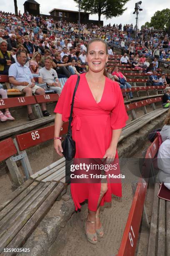
<instances>
[{"instance_id":1,"label":"smiling woman in red dress and sandals standing between benches","mask_svg":"<svg viewBox=\"0 0 170 256\"><path fill-rule=\"evenodd\" d=\"M76 144L75 158L118 158L117 142L128 115L117 82L105 76L108 60L107 44L100 38L92 39L87 45L87 73L80 74L75 94L72 120L72 138ZM60 136L63 121L70 116L72 95L77 75L72 75L62 90L55 113L55 137ZM60 139L54 140L57 154L62 156ZM71 183L75 210L88 200L88 215L85 232L90 243L97 243L97 236L104 235L100 223L100 205L111 201L111 195L122 196L121 183Z\"/></svg>"}]
</instances>

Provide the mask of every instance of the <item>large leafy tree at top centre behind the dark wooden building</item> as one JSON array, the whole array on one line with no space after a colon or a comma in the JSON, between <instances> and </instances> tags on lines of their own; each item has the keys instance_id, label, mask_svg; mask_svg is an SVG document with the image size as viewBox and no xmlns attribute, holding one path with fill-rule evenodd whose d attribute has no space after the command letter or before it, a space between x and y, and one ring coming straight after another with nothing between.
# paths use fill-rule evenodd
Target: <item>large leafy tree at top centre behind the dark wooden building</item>
<instances>
[{"instance_id":1,"label":"large leafy tree at top centre behind the dark wooden building","mask_svg":"<svg viewBox=\"0 0 170 256\"><path fill-rule=\"evenodd\" d=\"M74 0L79 4L80 9L85 12L90 12L91 14L98 14L98 20L100 22L101 15L105 18L112 18L122 15L122 13L127 9L124 5L129 0Z\"/></svg>"}]
</instances>

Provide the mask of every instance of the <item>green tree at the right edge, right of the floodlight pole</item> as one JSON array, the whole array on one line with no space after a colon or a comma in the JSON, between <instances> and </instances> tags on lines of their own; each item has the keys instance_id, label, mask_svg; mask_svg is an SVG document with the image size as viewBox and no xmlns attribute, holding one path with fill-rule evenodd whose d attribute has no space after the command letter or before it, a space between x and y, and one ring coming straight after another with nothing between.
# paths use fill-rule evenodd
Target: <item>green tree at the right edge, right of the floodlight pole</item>
<instances>
[{"instance_id":1,"label":"green tree at the right edge, right of the floodlight pole","mask_svg":"<svg viewBox=\"0 0 170 256\"><path fill-rule=\"evenodd\" d=\"M155 29L168 29L170 27L170 9L157 11L150 20L150 27Z\"/></svg>"}]
</instances>

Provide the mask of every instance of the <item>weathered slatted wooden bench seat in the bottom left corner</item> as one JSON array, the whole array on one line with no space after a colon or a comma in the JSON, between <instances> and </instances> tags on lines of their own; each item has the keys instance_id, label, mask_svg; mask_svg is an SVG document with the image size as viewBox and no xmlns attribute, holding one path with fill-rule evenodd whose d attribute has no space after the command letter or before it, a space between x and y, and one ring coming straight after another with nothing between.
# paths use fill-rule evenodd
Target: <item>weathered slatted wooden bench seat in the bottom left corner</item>
<instances>
[{"instance_id":1,"label":"weathered slatted wooden bench seat in the bottom left corner","mask_svg":"<svg viewBox=\"0 0 170 256\"><path fill-rule=\"evenodd\" d=\"M62 182L29 179L0 204L0 253L3 248L19 248L64 189ZM15 251L16 252L16 251ZM7 253L13 255L13 252Z\"/></svg>"}]
</instances>

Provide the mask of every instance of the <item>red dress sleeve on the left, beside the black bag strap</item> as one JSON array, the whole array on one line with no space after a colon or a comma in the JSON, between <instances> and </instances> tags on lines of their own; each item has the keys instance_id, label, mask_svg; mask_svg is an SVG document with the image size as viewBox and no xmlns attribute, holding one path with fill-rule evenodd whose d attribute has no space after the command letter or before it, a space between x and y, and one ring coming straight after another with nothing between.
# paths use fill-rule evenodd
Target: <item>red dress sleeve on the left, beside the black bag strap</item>
<instances>
[{"instance_id":1,"label":"red dress sleeve on the left, beside the black bag strap","mask_svg":"<svg viewBox=\"0 0 170 256\"><path fill-rule=\"evenodd\" d=\"M69 79L67 79L67 82L65 83L62 89L60 98L54 110L54 113L62 114L63 122L68 121L70 117L72 95L73 95L76 81L77 81L77 75L72 75L69 77Z\"/></svg>"}]
</instances>

